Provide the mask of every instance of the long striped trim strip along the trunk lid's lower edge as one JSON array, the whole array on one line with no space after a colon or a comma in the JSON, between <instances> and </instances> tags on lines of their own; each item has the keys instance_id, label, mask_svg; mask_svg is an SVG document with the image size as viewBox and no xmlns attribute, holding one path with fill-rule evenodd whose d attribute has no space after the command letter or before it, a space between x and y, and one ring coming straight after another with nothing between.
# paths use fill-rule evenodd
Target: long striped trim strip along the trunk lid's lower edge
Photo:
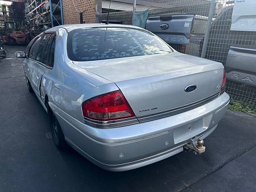
<instances>
[{"instance_id":1,"label":"long striped trim strip along the trunk lid's lower edge","mask_svg":"<svg viewBox=\"0 0 256 192\"><path fill-rule=\"evenodd\" d=\"M222 93L224 93L224 90L222 90L221 93L216 93L216 94L211 95L210 97L207 97L205 99L201 99L199 101L189 103L188 105L172 108L171 110L157 112L155 114L138 116L137 118L138 118L139 122L142 123L142 122L147 122L150 120L155 120L155 119L165 118L167 116L180 114L181 112L189 111L189 110L192 110L193 108L200 107L206 103L209 103L210 101L213 101L214 99L219 97Z\"/></svg>"}]
</instances>

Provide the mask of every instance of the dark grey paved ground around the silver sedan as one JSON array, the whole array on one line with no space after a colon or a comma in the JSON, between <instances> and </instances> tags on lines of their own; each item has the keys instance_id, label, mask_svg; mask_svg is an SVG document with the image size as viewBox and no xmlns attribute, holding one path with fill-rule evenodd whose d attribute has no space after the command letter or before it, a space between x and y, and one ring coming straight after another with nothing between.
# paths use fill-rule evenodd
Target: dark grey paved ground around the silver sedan
<instances>
[{"instance_id":1,"label":"dark grey paved ground around the silver sedan","mask_svg":"<svg viewBox=\"0 0 256 192\"><path fill-rule=\"evenodd\" d=\"M203 155L182 152L129 172L58 151L14 57L22 49L7 47L0 64L0 191L256 191L256 118L240 112L227 112Z\"/></svg>"}]
</instances>

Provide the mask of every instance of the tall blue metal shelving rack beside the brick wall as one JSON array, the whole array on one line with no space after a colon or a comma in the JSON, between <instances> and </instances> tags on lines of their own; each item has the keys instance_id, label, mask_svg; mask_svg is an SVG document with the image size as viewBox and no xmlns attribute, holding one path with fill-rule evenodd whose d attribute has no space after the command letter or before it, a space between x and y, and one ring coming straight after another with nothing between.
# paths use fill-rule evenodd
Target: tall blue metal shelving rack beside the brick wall
<instances>
[{"instance_id":1,"label":"tall blue metal shelving rack beside the brick wall","mask_svg":"<svg viewBox=\"0 0 256 192\"><path fill-rule=\"evenodd\" d=\"M32 37L48 28L63 24L61 0L26 0L25 7Z\"/></svg>"}]
</instances>

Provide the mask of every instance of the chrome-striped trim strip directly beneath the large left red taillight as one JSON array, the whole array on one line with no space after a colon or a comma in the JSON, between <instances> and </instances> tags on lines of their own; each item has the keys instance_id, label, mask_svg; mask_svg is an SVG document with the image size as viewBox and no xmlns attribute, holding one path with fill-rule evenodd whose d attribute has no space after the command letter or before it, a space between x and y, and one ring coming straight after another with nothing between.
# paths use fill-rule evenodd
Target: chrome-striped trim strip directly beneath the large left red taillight
<instances>
[{"instance_id":1,"label":"chrome-striped trim strip directly beneath the large left red taillight","mask_svg":"<svg viewBox=\"0 0 256 192\"><path fill-rule=\"evenodd\" d=\"M114 128L114 127L122 127L130 124L139 123L136 117L126 118L126 119L117 119L117 120L108 120L108 121L100 121L86 118L84 116L85 124L96 128Z\"/></svg>"}]
</instances>

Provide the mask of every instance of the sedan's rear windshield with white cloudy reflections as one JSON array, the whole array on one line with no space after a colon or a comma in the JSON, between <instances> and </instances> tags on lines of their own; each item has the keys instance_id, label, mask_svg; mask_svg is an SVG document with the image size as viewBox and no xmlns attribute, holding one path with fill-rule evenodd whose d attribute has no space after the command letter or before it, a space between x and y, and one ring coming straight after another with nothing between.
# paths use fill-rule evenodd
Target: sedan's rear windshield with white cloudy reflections
<instances>
[{"instance_id":1,"label":"sedan's rear windshield with white cloudy reflections","mask_svg":"<svg viewBox=\"0 0 256 192\"><path fill-rule=\"evenodd\" d=\"M69 59L93 61L172 52L164 41L148 32L131 28L107 28L69 32Z\"/></svg>"}]
</instances>

